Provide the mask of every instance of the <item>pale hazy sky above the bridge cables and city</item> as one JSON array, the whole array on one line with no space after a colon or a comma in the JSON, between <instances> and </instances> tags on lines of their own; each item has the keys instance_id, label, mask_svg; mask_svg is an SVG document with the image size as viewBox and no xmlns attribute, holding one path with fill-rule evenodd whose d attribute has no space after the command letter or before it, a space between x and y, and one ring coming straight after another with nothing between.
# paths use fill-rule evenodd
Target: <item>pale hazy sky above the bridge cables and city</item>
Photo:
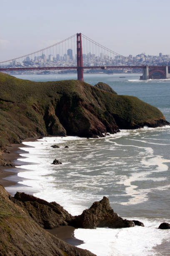
<instances>
[{"instance_id":1,"label":"pale hazy sky above the bridge cables and city","mask_svg":"<svg viewBox=\"0 0 170 256\"><path fill-rule=\"evenodd\" d=\"M0 0L0 61L77 32L122 54L170 54L170 0Z\"/></svg>"}]
</instances>

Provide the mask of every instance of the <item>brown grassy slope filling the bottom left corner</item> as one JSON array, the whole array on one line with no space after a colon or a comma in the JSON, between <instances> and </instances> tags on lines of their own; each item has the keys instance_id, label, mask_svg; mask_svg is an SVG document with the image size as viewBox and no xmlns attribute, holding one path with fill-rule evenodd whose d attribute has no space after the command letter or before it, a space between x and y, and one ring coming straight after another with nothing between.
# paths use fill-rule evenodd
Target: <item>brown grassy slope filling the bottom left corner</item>
<instances>
[{"instance_id":1,"label":"brown grassy slope filling the bottom left corner","mask_svg":"<svg viewBox=\"0 0 170 256\"><path fill-rule=\"evenodd\" d=\"M26 196L18 197L23 202L16 199L12 202L10 195L0 185L0 255L95 256L42 229L23 206Z\"/></svg>"}]
</instances>

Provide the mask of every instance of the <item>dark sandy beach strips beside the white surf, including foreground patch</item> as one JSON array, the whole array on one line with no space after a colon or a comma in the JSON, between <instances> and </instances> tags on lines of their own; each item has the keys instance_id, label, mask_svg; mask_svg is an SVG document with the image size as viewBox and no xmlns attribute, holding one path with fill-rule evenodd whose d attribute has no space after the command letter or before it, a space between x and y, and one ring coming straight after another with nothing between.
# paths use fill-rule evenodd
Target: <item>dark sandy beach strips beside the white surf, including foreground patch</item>
<instances>
[{"instance_id":1,"label":"dark sandy beach strips beside the white surf, including foreground patch","mask_svg":"<svg viewBox=\"0 0 170 256\"><path fill-rule=\"evenodd\" d=\"M36 141L39 138L39 136L33 137L33 138L27 138L24 141ZM16 168L15 162L17 161L18 158L25 158L23 156L20 156L20 154L28 152L25 151L21 148L25 148L28 146L24 145L22 142L19 144L11 144L10 146L7 146L7 151L10 151L10 153L4 153L2 156L4 157L5 160L11 161L13 166L0 166L0 184L5 187L5 189L8 192L8 187L10 186L15 186L18 184L17 181L12 179L8 179L12 176L15 176L18 174L19 169ZM28 163L29 164L29 163ZM11 171L13 169L13 171ZM10 171L8 171L10 170ZM19 177L18 177L19 180ZM23 191L24 192L24 191ZM11 193L10 193L11 194ZM30 193L31 194L31 193ZM12 195L13 196L13 195ZM47 232L51 233L54 236L57 236L57 238L60 238L62 241L65 241L66 243L69 243L73 246L78 246L82 243L84 243L82 240L79 240L74 237L74 230L75 228L72 226L60 226L58 228L54 229L45 229Z\"/></svg>"}]
</instances>

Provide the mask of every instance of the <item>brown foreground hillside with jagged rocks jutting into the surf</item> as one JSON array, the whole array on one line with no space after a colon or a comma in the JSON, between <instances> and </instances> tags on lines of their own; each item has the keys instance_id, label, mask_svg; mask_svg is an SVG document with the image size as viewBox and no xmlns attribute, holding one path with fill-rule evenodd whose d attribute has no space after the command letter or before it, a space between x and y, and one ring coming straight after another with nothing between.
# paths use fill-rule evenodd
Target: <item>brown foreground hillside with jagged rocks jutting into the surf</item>
<instances>
[{"instance_id":1,"label":"brown foreground hillside with jagged rocks jutting into the surf","mask_svg":"<svg viewBox=\"0 0 170 256\"><path fill-rule=\"evenodd\" d=\"M135 220L135 224L143 223ZM135 224L134 221L120 218L110 207L107 197L94 202L81 215L72 216L56 202L47 202L23 192L17 192L11 197L0 185L2 255L91 256L94 254L68 245L46 232L44 228L52 229L63 225L72 225L75 228L128 228L134 227Z\"/></svg>"}]
</instances>

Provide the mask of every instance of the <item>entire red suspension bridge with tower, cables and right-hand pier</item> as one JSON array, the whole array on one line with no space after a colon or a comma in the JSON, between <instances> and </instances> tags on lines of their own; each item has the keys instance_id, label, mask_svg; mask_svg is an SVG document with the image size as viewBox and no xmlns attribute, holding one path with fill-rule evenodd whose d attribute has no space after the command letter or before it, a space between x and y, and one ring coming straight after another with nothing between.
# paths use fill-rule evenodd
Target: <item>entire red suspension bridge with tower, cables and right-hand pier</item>
<instances>
[{"instance_id":1,"label":"entire red suspension bridge with tower, cables and right-hand pier","mask_svg":"<svg viewBox=\"0 0 170 256\"><path fill-rule=\"evenodd\" d=\"M76 49L74 50L74 52L77 56L76 59L73 59L71 48L74 49L75 47ZM66 49L68 49L67 53L70 53L69 55L66 54ZM82 49L84 52L86 51L86 54L83 54ZM64 51L65 54L63 54ZM40 56L38 57L36 55L38 53L41 53L41 58ZM64 59L60 61L61 53L65 56L65 63ZM46 61L45 59L45 56L47 56L47 54L49 54L50 61ZM55 54L57 56L56 61L54 61L55 58L53 57L55 56ZM32 61L32 56L34 56L34 61ZM69 61L67 58L68 56ZM86 61L85 56L87 57ZM107 61L104 60L104 56L106 56L105 59ZM120 59L123 64L114 65L115 58ZM105 62L105 64L103 64L103 62ZM59 66L57 65L58 63L60 64ZM69 65L66 65L67 63L69 63ZM133 59L125 57L121 54L117 54L115 51L108 49L107 47L97 43L96 41L93 41L92 39L81 33L72 35L65 40L62 40L56 44L50 45L38 51L34 51L30 54L9 59L7 61L0 61L0 72L67 69L76 69L77 79L81 81L83 81L84 69L138 69L143 72L143 76L140 77L140 79L143 80L170 78L170 67L139 65Z\"/></svg>"}]
</instances>

